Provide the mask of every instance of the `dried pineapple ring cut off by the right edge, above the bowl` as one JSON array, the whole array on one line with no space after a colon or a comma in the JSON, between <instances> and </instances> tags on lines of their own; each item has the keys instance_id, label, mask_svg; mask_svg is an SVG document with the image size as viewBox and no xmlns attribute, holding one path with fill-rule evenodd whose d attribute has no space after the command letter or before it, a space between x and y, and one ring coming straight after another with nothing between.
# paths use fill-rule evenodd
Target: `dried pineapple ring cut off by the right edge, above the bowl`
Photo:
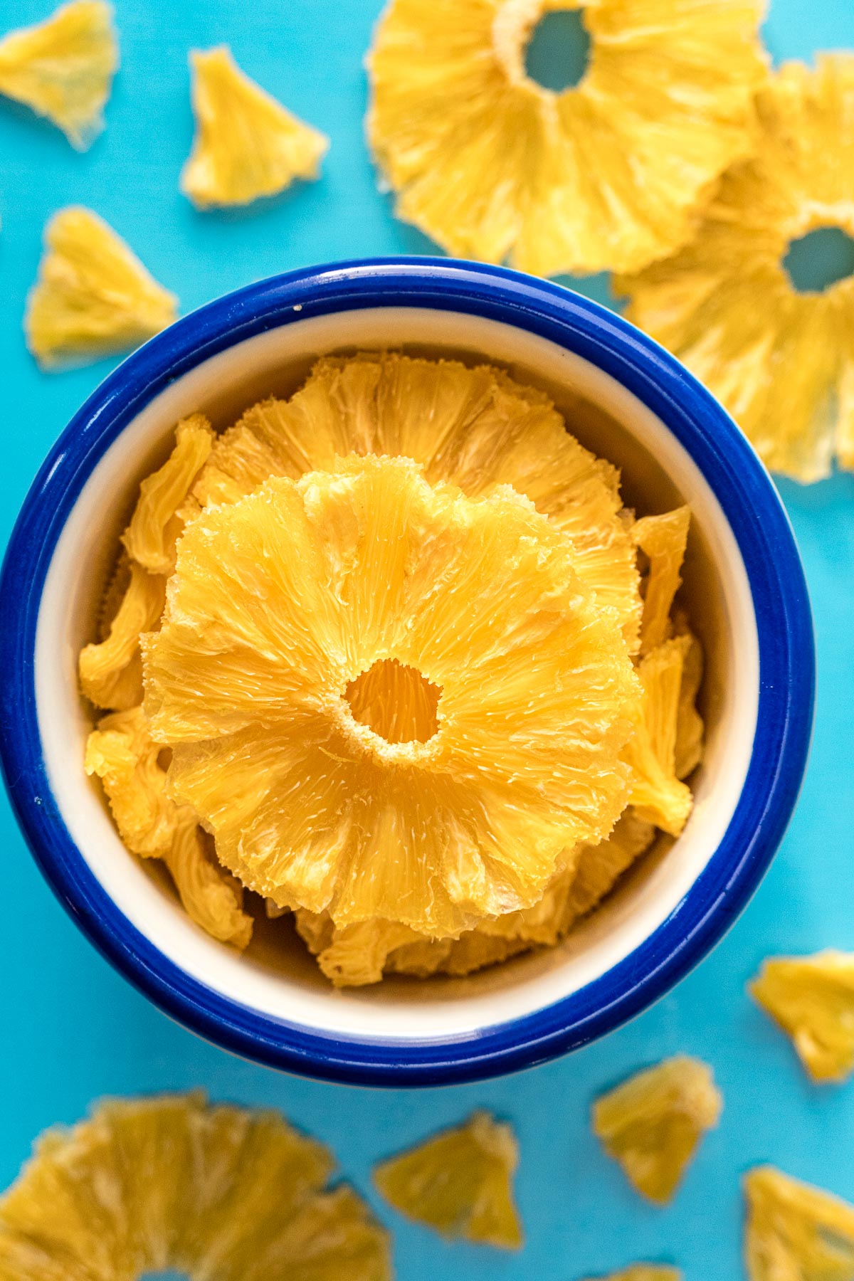
<instances>
[{"instance_id":1,"label":"dried pineapple ring cut off by the right edge, above the bowl","mask_svg":"<svg viewBox=\"0 0 854 1281\"><path fill-rule=\"evenodd\" d=\"M721 400L775 471L854 466L854 278L798 292L784 265L821 227L854 234L854 55L780 68L753 156L723 177L679 254L616 282L629 319Z\"/></svg>"}]
</instances>

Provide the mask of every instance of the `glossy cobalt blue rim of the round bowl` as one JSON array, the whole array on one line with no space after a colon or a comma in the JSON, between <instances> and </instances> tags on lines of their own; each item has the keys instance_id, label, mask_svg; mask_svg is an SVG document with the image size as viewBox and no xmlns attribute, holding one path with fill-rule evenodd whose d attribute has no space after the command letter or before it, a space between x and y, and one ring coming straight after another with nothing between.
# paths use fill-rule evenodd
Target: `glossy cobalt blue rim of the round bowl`
<instances>
[{"instance_id":1,"label":"glossy cobalt blue rim of the round bowl","mask_svg":"<svg viewBox=\"0 0 854 1281\"><path fill-rule=\"evenodd\" d=\"M714 854L667 920L630 956L568 997L443 1041L332 1036L224 998L187 975L109 898L51 794L36 716L35 640L56 541L92 469L164 387L224 348L310 316L431 307L504 322L589 360L682 443L723 509L748 573L759 639L758 725L746 780ZM620 316L499 266L369 259L291 272L201 307L119 365L74 415L29 489L0 575L0 761L42 874L99 951L181 1024L245 1058L362 1085L479 1080L563 1054L612 1031L672 988L717 943L759 884L791 817L814 703L807 584L777 492L735 423L682 365Z\"/></svg>"}]
</instances>

